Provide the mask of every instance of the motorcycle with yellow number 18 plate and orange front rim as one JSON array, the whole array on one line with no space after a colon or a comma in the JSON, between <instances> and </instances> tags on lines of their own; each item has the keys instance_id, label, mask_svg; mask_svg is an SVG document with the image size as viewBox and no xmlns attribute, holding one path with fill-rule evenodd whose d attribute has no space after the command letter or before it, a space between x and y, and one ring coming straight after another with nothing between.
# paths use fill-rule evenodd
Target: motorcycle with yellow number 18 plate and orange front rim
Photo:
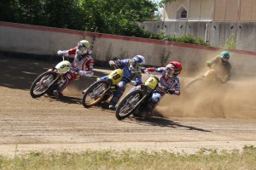
<instances>
[{"instance_id":1,"label":"motorcycle with yellow number 18 plate and orange front rim","mask_svg":"<svg viewBox=\"0 0 256 170\"><path fill-rule=\"evenodd\" d=\"M108 75L107 80L98 80L83 92L82 104L88 108L108 100L117 89L117 84L123 77L123 70L114 65L115 70Z\"/></svg>"}]
</instances>

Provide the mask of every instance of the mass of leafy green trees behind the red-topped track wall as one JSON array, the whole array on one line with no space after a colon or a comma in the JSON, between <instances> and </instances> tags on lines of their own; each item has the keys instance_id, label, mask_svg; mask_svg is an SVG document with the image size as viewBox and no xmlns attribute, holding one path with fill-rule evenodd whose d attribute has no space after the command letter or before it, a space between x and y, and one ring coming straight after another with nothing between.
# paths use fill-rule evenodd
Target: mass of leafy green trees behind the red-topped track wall
<instances>
[{"instance_id":1,"label":"mass of leafy green trees behind the red-topped track wall","mask_svg":"<svg viewBox=\"0 0 256 170\"><path fill-rule=\"evenodd\" d=\"M160 4L173 1L162 0ZM138 22L155 20L157 7L151 0L7 0L0 2L0 20L203 44L197 38L165 37L138 26Z\"/></svg>"}]
</instances>

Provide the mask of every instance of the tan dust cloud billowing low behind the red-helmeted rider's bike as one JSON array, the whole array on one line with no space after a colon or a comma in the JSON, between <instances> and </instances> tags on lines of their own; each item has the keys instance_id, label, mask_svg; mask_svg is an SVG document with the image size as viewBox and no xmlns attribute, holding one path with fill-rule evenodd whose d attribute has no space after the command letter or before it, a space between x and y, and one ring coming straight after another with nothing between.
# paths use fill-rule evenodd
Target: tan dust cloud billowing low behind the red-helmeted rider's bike
<instances>
[{"instance_id":1,"label":"tan dust cloud billowing low behind the red-helmeted rider's bike","mask_svg":"<svg viewBox=\"0 0 256 170\"><path fill-rule=\"evenodd\" d=\"M189 81L184 78L182 83ZM230 81L218 87L201 88L193 96L183 89L180 96L166 94L155 111L166 117L256 119L255 85L256 79Z\"/></svg>"}]
</instances>

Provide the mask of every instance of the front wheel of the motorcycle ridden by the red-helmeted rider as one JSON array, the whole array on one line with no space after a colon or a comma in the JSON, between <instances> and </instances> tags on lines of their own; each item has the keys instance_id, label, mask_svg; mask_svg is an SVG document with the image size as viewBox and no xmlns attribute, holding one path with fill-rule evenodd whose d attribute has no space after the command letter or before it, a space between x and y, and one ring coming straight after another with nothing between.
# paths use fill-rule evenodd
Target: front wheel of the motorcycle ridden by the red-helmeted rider
<instances>
[{"instance_id":1,"label":"front wheel of the motorcycle ridden by the red-helmeted rider","mask_svg":"<svg viewBox=\"0 0 256 170\"><path fill-rule=\"evenodd\" d=\"M116 108L115 116L120 121L130 116L134 111L136 111L138 103L143 99L143 93L141 90L135 90L130 94L127 94L124 99L122 99ZM142 102L142 101L141 101Z\"/></svg>"}]
</instances>

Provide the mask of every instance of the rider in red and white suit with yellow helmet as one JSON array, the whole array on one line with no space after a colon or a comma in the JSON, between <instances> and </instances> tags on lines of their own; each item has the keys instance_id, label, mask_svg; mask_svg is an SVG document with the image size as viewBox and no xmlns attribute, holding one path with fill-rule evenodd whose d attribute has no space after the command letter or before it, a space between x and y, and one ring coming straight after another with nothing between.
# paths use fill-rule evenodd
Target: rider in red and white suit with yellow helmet
<instances>
[{"instance_id":1,"label":"rider in red and white suit with yellow helmet","mask_svg":"<svg viewBox=\"0 0 256 170\"><path fill-rule=\"evenodd\" d=\"M73 79L79 79L81 77L93 76L94 59L91 57L90 42L87 40L81 40L78 45L68 50L59 50L58 55L74 55L73 63L71 64L71 71L69 71L63 78L59 87L53 92L58 97L61 96L61 92L67 87L67 84Z\"/></svg>"}]
</instances>

